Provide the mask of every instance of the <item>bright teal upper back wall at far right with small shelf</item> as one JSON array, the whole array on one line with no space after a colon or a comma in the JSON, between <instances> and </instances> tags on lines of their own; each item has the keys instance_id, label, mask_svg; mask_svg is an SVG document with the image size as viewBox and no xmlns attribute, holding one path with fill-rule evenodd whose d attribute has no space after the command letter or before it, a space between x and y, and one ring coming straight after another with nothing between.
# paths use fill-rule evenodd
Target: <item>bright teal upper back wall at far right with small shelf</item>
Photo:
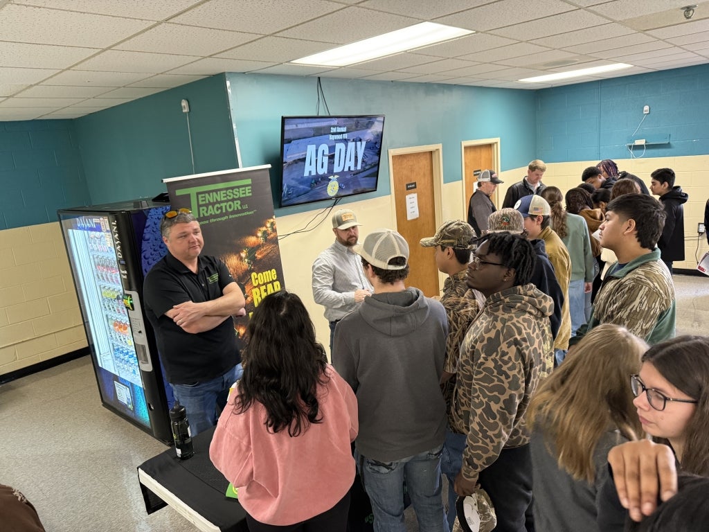
<instances>
[{"instance_id":1,"label":"bright teal upper back wall at far right with small shelf","mask_svg":"<svg viewBox=\"0 0 709 532\"><path fill-rule=\"evenodd\" d=\"M537 91L539 157L563 162L709 153L708 85L709 65L697 65ZM645 105L650 113L643 120ZM668 136L669 144L633 146L632 155L627 149L631 137L652 142Z\"/></svg>"}]
</instances>

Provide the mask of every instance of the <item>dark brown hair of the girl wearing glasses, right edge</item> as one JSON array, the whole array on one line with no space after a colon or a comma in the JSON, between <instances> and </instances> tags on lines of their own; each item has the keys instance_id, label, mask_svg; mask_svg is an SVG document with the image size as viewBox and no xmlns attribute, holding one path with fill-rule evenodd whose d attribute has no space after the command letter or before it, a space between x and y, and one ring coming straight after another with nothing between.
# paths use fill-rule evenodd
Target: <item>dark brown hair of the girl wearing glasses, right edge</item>
<instances>
[{"instance_id":1,"label":"dark brown hair of the girl wearing glasses, right edge","mask_svg":"<svg viewBox=\"0 0 709 532\"><path fill-rule=\"evenodd\" d=\"M684 428L684 471L709 476L709 338L678 336L657 343L642 356L697 405Z\"/></svg>"}]
</instances>

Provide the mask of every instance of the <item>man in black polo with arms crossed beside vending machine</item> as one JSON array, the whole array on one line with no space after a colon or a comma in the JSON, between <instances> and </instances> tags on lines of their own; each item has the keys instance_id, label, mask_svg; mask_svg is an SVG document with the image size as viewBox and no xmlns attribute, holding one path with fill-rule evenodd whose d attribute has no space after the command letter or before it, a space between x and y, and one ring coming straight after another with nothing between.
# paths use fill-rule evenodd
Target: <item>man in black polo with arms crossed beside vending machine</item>
<instances>
[{"instance_id":1,"label":"man in black polo with arms crossed beside vending machine","mask_svg":"<svg viewBox=\"0 0 709 532\"><path fill-rule=\"evenodd\" d=\"M160 233L167 255L145 276L145 314L194 436L216 424L217 399L240 377L232 316L245 314L244 294L224 262L200 255L202 231L189 209L167 212Z\"/></svg>"}]
</instances>

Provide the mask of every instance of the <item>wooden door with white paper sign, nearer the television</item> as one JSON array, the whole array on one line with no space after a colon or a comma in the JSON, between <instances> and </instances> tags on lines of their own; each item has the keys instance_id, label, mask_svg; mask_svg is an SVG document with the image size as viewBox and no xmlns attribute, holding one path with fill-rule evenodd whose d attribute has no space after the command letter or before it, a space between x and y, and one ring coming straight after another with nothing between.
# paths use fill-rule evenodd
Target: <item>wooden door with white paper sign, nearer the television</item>
<instances>
[{"instance_id":1,"label":"wooden door with white paper sign, nearer the television","mask_svg":"<svg viewBox=\"0 0 709 532\"><path fill-rule=\"evenodd\" d=\"M406 238L409 247L406 286L416 287L428 297L440 295L433 248L423 248L419 243L421 238L436 232L433 160L434 153L430 150L391 157L396 231ZM416 217L414 207L418 209Z\"/></svg>"}]
</instances>

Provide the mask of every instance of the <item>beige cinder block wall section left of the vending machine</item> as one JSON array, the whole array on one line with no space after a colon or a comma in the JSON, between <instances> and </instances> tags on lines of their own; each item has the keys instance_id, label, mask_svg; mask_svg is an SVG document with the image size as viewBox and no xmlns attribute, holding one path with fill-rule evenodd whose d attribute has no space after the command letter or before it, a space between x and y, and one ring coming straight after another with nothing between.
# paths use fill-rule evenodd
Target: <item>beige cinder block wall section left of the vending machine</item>
<instances>
[{"instance_id":1,"label":"beige cinder block wall section left of the vending machine","mask_svg":"<svg viewBox=\"0 0 709 532\"><path fill-rule=\"evenodd\" d=\"M0 375L86 345L59 223L0 231Z\"/></svg>"}]
</instances>

